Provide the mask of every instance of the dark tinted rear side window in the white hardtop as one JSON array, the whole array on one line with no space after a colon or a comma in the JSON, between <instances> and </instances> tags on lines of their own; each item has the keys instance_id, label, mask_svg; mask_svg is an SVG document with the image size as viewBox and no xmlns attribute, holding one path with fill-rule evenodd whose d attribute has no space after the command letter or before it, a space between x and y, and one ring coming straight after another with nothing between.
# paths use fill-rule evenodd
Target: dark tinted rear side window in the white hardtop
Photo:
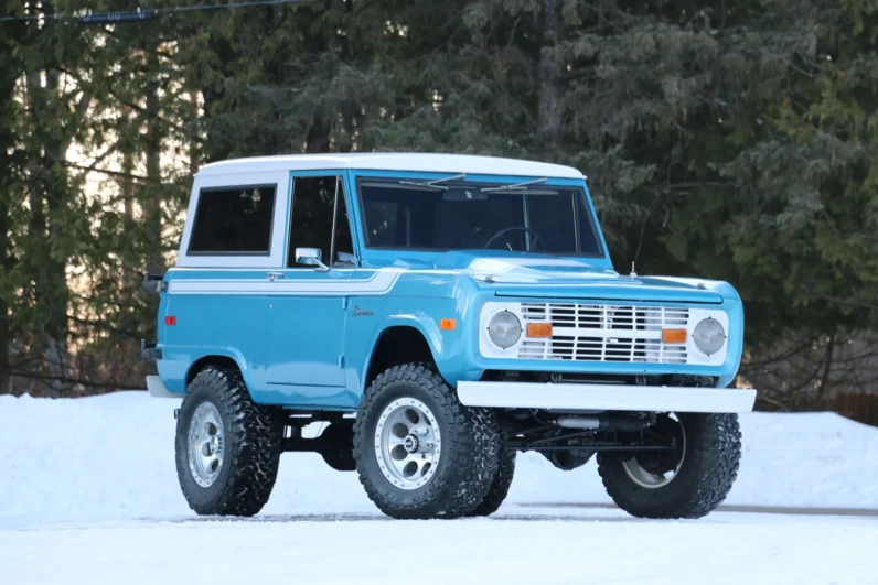
<instances>
[{"instance_id":1,"label":"dark tinted rear side window in the white hardtop","mask_svg":"<svg viewBox=\"0 0 878 585\"><path fill-rule=\"evenodd\" d=\"M277 185L203 188L189 253L268 254Z\"/></svg>"}]
</instances>

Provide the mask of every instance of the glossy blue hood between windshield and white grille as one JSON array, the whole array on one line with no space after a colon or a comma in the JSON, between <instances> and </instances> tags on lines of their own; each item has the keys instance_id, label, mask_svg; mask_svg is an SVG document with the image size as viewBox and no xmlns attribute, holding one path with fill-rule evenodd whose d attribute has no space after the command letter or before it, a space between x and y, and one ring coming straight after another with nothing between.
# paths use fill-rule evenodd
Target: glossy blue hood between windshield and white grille
<instances>
[{"instance_id":1,"label":"glossy blue hood between windshield and white grille","mask_svg":"<svg viewBox=\"0 0 878 585\"><path fill-rule=\"evenodd\" d=\"M436 268L460 270L496 296L721 303L713 281L667 277L629 277L596 268L587 260L550 256L491 256L447 252Z\"/></svg>"}]
</instances>

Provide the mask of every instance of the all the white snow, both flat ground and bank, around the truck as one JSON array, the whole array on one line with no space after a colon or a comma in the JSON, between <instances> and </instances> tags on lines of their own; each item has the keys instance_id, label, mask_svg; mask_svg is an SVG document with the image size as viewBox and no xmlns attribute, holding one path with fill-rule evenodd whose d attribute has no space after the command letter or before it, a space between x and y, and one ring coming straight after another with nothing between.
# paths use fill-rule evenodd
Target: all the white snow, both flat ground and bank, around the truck
<instances>
[{"instance_id":1,"label":"all the white snow, both flat ground and bank, around the truck","mask_svg":"<svg viewBox=\"0 0 878 585\"><path fill-rule=\"evenodd\" d=\"M496 516L398 522L355 474L286 454L259 517L217 521L176 485L175 405L0 397L0 584L878 583L878 430L834 414L742 416L726 509L872 517L635 520L609 507L593 464L563 473L526 454Z\"/></svg>"}]
</instances>

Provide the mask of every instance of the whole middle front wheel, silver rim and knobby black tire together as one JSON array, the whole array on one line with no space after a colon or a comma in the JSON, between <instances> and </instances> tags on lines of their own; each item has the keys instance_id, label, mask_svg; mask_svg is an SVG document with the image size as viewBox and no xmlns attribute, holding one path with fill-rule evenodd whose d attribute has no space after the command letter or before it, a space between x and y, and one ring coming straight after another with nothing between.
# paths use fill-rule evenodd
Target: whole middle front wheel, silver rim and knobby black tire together
<instances>
[{"instance_id":1,"label":"whole middle front wheel, silver rim and knobby black tire together","mask_svg":"<svg viewBox=\"0 0 878 585\"><path fill-rule=\"evenodd\" d=\"M492 411L461 404L439 373L406 364L366 389L354 457L366 494L387 516L459 518L496 476L500 430Z\"/></svg>"}]
</instances>

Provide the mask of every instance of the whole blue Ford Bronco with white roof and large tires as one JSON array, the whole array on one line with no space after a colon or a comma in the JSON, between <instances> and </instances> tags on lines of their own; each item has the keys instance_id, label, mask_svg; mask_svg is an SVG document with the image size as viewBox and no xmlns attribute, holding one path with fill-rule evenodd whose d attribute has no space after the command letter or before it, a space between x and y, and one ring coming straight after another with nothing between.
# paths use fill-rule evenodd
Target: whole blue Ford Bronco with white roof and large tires
<instances>
[{"instance_id":1,"label":"whole blue Ford Bronco with white roof and large tires","mask_svg":"<svg viewBox=\"0 0 878 585\"><path fill-rule=\"evenodd\" d=\"M282 452L355 470L394 518L494 512L516 452L597 456L629 513L697 518L735 481L735 289L617 273L586 177L447 154L243 159L194 178L142 343L182 399L200 514L250 516ZM303 432L322 423L318 436Z\"/></svg>"}]
</instances>

